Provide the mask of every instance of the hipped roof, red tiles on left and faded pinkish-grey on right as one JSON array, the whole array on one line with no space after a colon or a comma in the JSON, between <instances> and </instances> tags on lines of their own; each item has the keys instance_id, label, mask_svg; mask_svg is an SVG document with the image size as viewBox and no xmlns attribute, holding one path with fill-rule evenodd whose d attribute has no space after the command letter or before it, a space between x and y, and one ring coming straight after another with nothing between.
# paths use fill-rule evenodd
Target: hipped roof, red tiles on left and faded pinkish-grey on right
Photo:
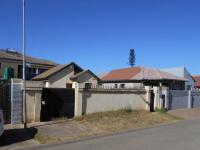
<instances>
[{"instance_id":1,"label":"hipped roof, red tiles on left and faded pinkish-grey on right","mask_svg":"<svg viewBox=\"0 0 200 150\"><path fill-rule=\"evenodd\" d=\"M119 80L179 80L187 81L182 77L173 74L146 67L132 67L113 70L103 77L103 81L119 81Z\"/></svg>"}]
</instances>

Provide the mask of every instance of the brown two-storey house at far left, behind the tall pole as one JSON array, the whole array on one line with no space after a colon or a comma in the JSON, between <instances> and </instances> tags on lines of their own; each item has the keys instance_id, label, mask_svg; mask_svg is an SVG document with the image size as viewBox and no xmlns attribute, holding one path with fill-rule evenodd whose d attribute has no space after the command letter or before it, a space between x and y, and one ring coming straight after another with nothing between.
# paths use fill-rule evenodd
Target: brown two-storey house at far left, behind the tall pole
<instances>
[{"instance_id":1,"label":"brown two-storey house at far left, behind the tall pole","mask_svg":"<svg viewBox=\"0 0 200 150\"><path fill-rule=\"evenodd\" d=\"M26 79L30 80L38 74L55 67L57 64L44 59L25 56ZM12 78L22 78L23 55L16 50L0 49L0 79L7 79L7 72Z\"/></svg>"}]
</instances>

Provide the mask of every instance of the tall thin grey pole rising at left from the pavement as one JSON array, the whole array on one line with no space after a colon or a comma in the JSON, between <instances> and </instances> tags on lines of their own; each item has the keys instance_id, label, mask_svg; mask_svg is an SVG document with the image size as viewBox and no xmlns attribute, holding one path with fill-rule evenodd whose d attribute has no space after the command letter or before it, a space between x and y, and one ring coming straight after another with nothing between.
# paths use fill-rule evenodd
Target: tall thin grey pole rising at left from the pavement
<instances>
[{"instance_id":1,"label":"tall thin grey pole rising at left from the pavement","mask_svg":"<svg viewBox=\"0 0 200 150\"><path fill-rule=\"evenodd\" d=\"M26 15L25 15L25 0L22 0L22 9L23 9L23 15L22 15L22 49L23 49L23 124L24 124L24 128L27 128L27 124L26 124L26 59L25 59L25 54L26 54Z\"/></svg>"}]
</instances>

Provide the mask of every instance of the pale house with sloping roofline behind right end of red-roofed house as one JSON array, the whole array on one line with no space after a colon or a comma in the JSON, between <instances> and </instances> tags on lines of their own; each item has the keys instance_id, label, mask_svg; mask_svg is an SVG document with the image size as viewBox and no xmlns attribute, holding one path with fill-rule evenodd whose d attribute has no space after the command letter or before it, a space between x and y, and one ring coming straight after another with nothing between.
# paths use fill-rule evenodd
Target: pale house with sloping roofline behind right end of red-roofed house
<instances>
[{"instance_id":1,"label":"pale house with sloping roofline behind right end of red-roofed house","mask_svg":"<svg viewBox=\"0 0 200 150\"><path fill-rule=\"evenodd\" d=\"M187 81L185 82L185 90L193 90L195 81L192 75L189 73L189 71L185 67L176 67L176 68L166 68L162 69L162 71L171 73L175 76L186 78Z\"/></svg>"}]
</instances>

